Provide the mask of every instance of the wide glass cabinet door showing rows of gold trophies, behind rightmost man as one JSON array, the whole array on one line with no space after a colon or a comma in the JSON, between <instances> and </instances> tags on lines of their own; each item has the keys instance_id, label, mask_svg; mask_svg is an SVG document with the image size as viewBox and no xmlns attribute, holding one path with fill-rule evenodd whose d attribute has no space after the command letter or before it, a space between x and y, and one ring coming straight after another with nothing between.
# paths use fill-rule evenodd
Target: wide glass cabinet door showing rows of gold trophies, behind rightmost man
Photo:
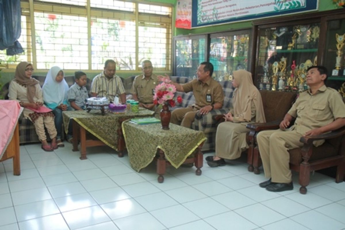
<instances>
[{"instance_id":1,"label":"wide glass cabinet door showing rows of gold trophies, behind rightmost man","mask_svg":"<svg viewBox=\"0 0 345 230\"><path fill-rule=\"evenodd\" d=\"M317 63L319 33L319 23L259 28L256 86L267 90L305 90L306 70Z\"/></svg>"}]
</instances>

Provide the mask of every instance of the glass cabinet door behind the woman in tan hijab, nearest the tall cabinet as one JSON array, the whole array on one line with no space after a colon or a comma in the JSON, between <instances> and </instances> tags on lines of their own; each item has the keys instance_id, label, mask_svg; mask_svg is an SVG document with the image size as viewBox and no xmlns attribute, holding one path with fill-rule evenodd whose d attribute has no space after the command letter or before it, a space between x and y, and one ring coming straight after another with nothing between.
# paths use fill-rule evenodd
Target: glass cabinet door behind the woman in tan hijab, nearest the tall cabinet
<instances>
[{"instance_id":1,"label":"glass cabinet door behind the woman in tan hijab, nearest the tall cabinet","mask_svg":"<svg viewBox=\"0 0 345 230\"><path fill-rule=\"evenodd\" d=\"M251 30L210 35L209 60L214 66L213 78L218 81L232 80L234 70L249 70L249 40Z\"/></svg>"}]
</instances>

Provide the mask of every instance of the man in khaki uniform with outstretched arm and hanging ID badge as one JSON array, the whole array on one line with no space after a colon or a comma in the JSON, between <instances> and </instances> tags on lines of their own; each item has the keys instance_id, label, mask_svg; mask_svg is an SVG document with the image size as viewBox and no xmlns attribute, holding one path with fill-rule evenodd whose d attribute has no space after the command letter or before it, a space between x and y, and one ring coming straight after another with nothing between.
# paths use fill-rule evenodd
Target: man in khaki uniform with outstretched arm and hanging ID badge
<instances>
[{"instance_id":1,"label":"man in khaki uniform with outstretched arm and hanging ID badge","mask_svg":"<svg viewBox=\"0 0 345 230\"><path fill-rule=\"evenodd\" d=\"M202 62L197 71L197 79L185 84L171 82L177 91L190 92L193 91L195 104L193 106L175 109L171 113L171 123L181 124L186 128L190 128L194 121L195 114L199 111L201 115L207 114L213 109L223 107L224 92L221 85L211 76L213 73L213 64L210 62Z\"/></svg>"}]
</instances>

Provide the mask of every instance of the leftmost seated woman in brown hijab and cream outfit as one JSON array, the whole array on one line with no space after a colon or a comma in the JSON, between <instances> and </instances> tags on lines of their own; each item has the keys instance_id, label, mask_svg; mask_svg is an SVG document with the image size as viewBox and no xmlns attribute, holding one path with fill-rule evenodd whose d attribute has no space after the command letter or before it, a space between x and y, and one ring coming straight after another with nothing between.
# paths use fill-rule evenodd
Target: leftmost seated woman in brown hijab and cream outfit
<instances>
[{"instance_id":1,"label":"leftmost seated woman in brown hijab and cream outfit","mask_svg":"<svg viewBox=\"0 0 345 230\"><path fill-rule=\"evenodd\" d=\"M32 78L32 64L20 62L16 68L14 79L10 83L8 97L17 100L24 108L24 118L30 119L35 126L37 136L42 143L42 149L48 152L57 149L54 114L43 106L43 95L39 81ZM51 138L51 145L47 142L45 127Z\"/></svg>"}]
</instances>

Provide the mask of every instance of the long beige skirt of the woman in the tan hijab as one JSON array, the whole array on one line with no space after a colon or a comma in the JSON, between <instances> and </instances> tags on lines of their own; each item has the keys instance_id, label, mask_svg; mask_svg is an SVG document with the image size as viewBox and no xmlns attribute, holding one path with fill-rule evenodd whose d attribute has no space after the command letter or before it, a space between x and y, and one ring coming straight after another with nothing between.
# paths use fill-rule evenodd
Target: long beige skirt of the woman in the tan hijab
<instances>
[{"instance_id":1,"label":"long beige skirt of the woman in the tan hijab","mask_svg":"<svg viewBox=\"0 0 345 230\"><path fill-rule=\"evenodd\" d=\"M225 121L220 123L216 133L216 156L224 159L237 159L242 151L249 146L246 134L249 129L247 123L233 123Z\"/></svg>"}]
</instances>

